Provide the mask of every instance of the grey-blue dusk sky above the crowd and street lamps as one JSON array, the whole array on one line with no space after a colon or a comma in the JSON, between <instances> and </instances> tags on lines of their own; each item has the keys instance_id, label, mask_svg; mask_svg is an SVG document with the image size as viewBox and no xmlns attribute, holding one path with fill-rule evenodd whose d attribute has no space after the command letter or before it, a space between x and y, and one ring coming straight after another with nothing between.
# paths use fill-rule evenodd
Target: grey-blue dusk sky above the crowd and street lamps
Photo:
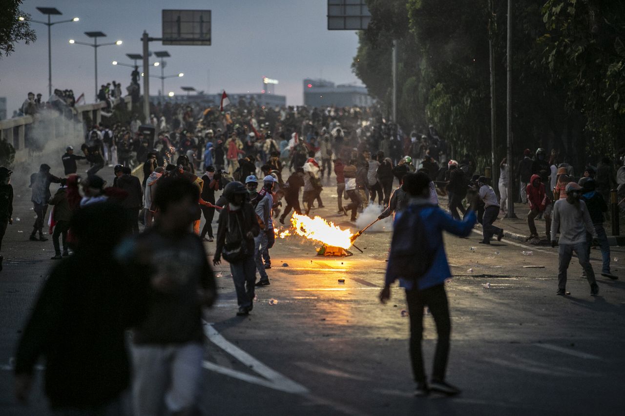
<instances>
[{"instance_id":1,"label":"grey-blue dusk sky above the crowd and street lamps","mask_svg":"<svg viewBox=\"0 0 625 416\"><path fill-rule=\"evenodd\" d=\"M181 86L211 93L260 92L262 76L277 79L276 94L286 95L287 104L302 104L302 79L322 77L337 84L361 84L351 71L356 54L354 31L327 30L326 0L25 0L22 10L32 19L47 20L36 7L56 7L63 16L80 21L52 27L53 89L73 89L94 100L93 47L71 45L69 39L91 42L84 32L102 31L98 42L123 41L121 46L98 48L98 84L121 82L124 94L130 82L131 64L127 53L141 53L141 34L161 36L162 9L212 10L211 46L163 46L151 42L150 51L171 54L165 75L184 72L182 78L165 81L165 91L184 94ZM29 91L47 99L47 27L31 23L37 41L20 42L9 57L0 59L0 97L7 97L7 115L21 106ZM150 62L154 62L151 57ZM160 69L151 68L151 73ZM161 81L150 78L155 95ZM143 89L143 84L141 85ZM143 92L143 91L142 91Z\"/></svg>"}]
</instances>

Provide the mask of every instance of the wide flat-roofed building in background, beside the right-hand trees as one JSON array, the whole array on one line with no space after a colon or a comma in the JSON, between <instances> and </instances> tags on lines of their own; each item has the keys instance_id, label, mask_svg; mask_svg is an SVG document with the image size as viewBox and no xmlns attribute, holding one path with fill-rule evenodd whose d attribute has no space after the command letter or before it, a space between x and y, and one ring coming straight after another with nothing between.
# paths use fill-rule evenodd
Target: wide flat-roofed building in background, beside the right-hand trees
<instances>
[{"instance_id":1,"label":"wide flat-roofed building in background, beside the right-hand trees","mask_svg":"<svg viewBox=\"0 0 625 416\"><path fill-rule=\"evenodd\" d=\"M373 99L366 87L334 85L325 79L304 79L304 106L369 107Z\"/></svg>"}]
</instances>

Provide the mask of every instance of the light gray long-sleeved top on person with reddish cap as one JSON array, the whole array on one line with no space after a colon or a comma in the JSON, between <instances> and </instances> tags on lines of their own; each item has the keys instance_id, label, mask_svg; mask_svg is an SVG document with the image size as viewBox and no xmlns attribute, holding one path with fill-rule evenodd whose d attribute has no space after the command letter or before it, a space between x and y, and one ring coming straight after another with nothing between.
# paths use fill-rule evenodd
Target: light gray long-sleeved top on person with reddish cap
<instances>
[{"instance_id":1,"label":"light gray long-sleeved top on person with reddish cap","mask_svg":"<svg viewBox=\"0 0 625 416\"><path fill-rule=\"evenodd\" d=\"M556 237L560 228L559 244L579 244L586 242L586 231L597 236L586 203L579 201L579 206L569 204L566 199L558 199L553 207L551 238Z\"/></svg>"}]
</instances>

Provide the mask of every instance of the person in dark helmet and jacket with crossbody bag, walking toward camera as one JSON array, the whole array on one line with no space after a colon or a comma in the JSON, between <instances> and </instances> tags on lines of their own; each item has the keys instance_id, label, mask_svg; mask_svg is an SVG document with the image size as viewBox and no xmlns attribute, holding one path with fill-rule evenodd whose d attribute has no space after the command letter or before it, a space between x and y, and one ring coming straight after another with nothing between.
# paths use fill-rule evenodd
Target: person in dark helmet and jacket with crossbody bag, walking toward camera
<instances>
[{"instance_id":1,"label":"person in dark helmet and jacket with crossbody bag, walking toward camera","mask_svg":"<svg viewBox=\"0 0 625 416\"><path fill-rule=\"evenodd\" d=\"M227 206L219 212L217 241L212 264L221 264L221 257L230 264L230 272L236 290L238 316L248 315L254 308L254 237L260 227L254 208L246 202L247 189L241 182L230 182L224 187Z\"/></svg>"}]
</instances>

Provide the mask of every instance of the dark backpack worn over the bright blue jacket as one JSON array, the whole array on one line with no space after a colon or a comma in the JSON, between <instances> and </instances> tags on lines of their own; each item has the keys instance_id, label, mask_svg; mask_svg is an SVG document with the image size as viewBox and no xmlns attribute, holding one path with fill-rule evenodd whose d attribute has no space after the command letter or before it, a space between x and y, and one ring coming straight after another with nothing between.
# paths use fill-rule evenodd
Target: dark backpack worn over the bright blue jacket
<instances>
[{"instance_id":1,"label":"dark backpack worn over the bright blue jacket","mask_svg":"<svg viewBox=\"0 0 625 416\"><path fill-rule=\"evenodd\" d=\"M386 273L406 280L419 280L432 267L434 249L428 240L420 212L433 205L410 205L397 215L393 225L391 252Z\"/></svg>"}]
</instances>

